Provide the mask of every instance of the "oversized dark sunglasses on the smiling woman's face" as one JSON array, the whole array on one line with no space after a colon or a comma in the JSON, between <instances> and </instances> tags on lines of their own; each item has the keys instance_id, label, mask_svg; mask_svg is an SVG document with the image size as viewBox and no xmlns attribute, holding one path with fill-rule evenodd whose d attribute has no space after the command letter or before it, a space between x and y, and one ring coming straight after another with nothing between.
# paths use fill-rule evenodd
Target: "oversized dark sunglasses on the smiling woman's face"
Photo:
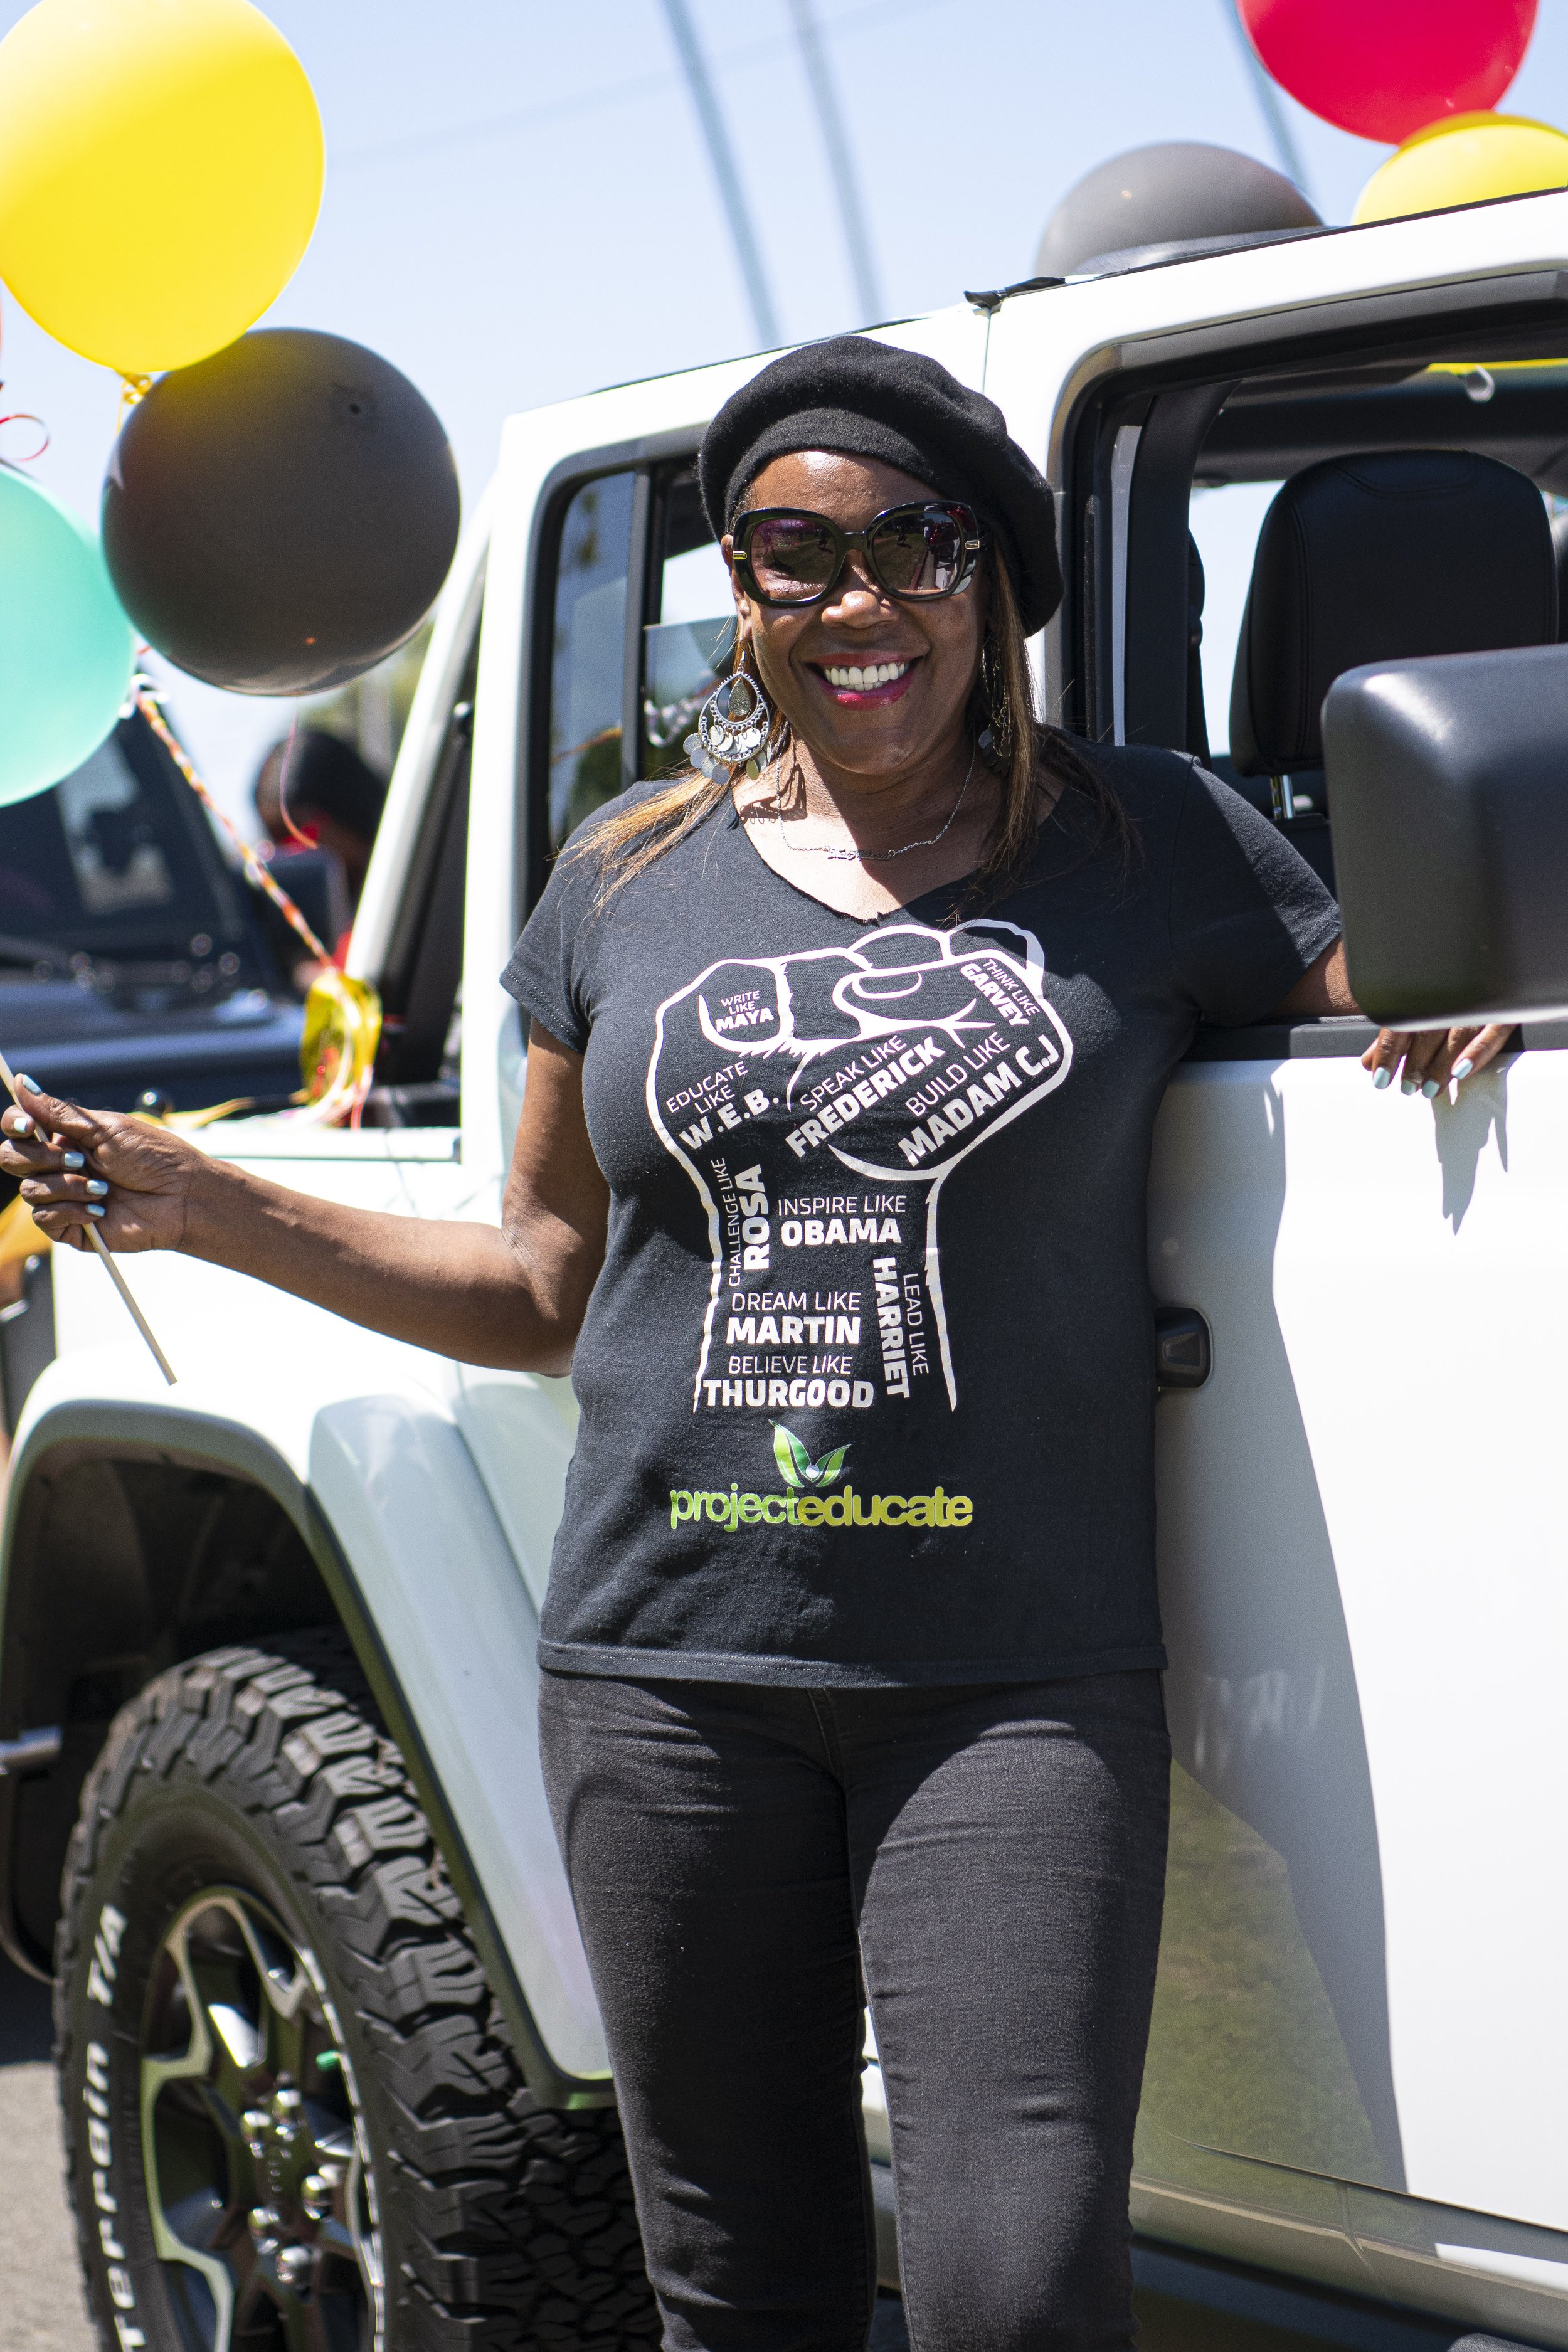
<instances>
[{"instance_id":1,"label":"oversized dark sunglasses on the smiling woman's face","mask_svg":"<svg viewBox=\"0 0 1568 2352\"><path fill-rule=\"evenodd\" d=\"M759 604L820 604L849 550L889 595L924 602L957 595L973 579L980 517L952 499L889 506L863 532L842 532L827 515L799 506L757 506L736 515L736 572Z\"/></svg>"}]
</instances>

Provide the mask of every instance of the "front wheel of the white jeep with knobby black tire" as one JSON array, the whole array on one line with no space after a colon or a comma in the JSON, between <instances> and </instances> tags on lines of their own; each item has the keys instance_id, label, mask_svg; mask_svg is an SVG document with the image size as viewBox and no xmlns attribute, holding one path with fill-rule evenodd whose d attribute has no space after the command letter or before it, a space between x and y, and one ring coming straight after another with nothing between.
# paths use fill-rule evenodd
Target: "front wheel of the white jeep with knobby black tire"
<instances>
[{"instance_id":1,"label":"front wheel of the white jeep with knobby black tire","mask_svg":"<svg viewBox=\"0 0 1568 2352\"><path fill-rule=\"evenodd\" d=\"M219 1898L212 1907L207 1891ZM190 2018L197 1983L181 1973L181 1957L188 1971L209 1969L226 1936L242 1945L242 1973L244 1952L252 1962L259 1950L280 1955L273 1980L299 1987L306 2018L289 2049L301 2074L317 2070L308 2089L336 2096L346 2124L331 2143L324 2110L301 2107L284 2070L273 2105L256 2107L244 2091L252 2110L235 2140L205 2119L207 2107L228 2114L223 2100L181 2079L169 2093L176 2107L183 2100L174 2126L148 2129L148 2147L160 2150L148 2171L143 2058L160 2063L148 2037L179 2058L179 2020ZM266 1987L254 1992L254 1964L244 1980L273 2030L277 2002L268 2009ZM202 1990L205 2011L207 1999ZM228 2230L247 2270L233 2352L284 2352L287 2343L630 2352L658 2340L618 2119L611 2107L559 2114L529 2093L402 1757L343 1637L212 1651L148 1684L115 1717L66 1860L54 2004L66 2178L103 2352L207 2352L212 2343L207 2305L223 2284L209 2288L183 2253L160 2256L155 2204L165 2239L176 2213L181 2246L212 2249ZM240 2060L261 2049L244 2042L233 2004L207 2016L240 2037ZM197 2046L190 2032L186 2044ZM216 2049L212 2032L207 2044ZM169 2129L221 2150L207 2206L186 2178L200 2161ZM256 2187L259 2169L270 2164L266 2180L277 2187L289 2143L310 2147L313 2136L339 2154L357 2147L357 2159L336 2166L350 2176L336 2190L339 2239L357 2230L357 2270L299 2237L317 2227L299 2216L301 2194L327 2197L320 2171L306 2192L284 2180L280 2204L252 2209L249 2225L240 2211L247 2194L268 2194L266 2183ZM219 2204L228 2211L214 2220ZM259 2232L256 2211L277 2220L282 2253L266 2220ZM322 2244L331 2225L327 2213ZM301 2286L301 2300L317 2298L315 2317L294 2307L284 2326L287 2293L277 2288L277 2307L268 2300L268 2263L317 2265ZM329 2284L341 2288L336 2300Z\"/></svg>"}]
</instances>

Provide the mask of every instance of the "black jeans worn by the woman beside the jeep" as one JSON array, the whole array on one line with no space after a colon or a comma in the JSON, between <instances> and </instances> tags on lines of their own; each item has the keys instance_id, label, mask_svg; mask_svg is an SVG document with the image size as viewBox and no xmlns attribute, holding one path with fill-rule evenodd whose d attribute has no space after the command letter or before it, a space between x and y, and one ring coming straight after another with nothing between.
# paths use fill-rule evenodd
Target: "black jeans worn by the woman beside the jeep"
<instances>
[{"instance_id":1,"label":"black jeans worn by the woman beside the jeep","mask_svg":"<svg viewBox=\"0 0 1568 2352\"><path fill-rule=\"evenodd\" d=\"M665 2345L865 2345L863 1997L914 2352L1131 2345L1159 1675L545 1675L541 1738Z\"/></svg>"}]
</instances>

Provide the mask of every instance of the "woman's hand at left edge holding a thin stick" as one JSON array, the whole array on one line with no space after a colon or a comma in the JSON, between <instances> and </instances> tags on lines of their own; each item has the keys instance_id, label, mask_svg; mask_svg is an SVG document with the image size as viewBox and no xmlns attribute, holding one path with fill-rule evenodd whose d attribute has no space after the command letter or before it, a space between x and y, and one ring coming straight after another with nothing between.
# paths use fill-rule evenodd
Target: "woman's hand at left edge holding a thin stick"
<instances>
[{"instance_id":1,"label":"woman's hand at left edge holding a thin stick","mask_svg":"<svg viewBox=\"0 0 1568 2352\"><path fill-rule=\"evenodd\" d=\"M179 1249L207 1157L167 1127L118 1110L80 1110L16 1077L19 1110L0 1117L0 1169L21 1176L33 1223L52 1242L89 1249Z\"/></svg>"}]
</instances>

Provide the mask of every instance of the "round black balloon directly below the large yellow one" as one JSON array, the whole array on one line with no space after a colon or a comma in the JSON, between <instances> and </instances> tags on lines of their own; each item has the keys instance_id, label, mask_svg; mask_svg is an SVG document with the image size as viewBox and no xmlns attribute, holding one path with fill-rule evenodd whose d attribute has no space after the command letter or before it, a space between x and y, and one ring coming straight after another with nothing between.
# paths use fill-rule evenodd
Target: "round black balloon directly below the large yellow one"
<instances>
[{"instance_id":1,"label":"round black balloon directly below the large yellow one","mask_svg":"<svg viewBox=\"0 0 1568 2352\"><path fill-rule=\"evenodd\" d=\"M430 609L458 541L442 423L374 350L266 327L160 376L103 482L103 555L176 668L237 694L357 677Z\"/></svg>"}]
</instances>

